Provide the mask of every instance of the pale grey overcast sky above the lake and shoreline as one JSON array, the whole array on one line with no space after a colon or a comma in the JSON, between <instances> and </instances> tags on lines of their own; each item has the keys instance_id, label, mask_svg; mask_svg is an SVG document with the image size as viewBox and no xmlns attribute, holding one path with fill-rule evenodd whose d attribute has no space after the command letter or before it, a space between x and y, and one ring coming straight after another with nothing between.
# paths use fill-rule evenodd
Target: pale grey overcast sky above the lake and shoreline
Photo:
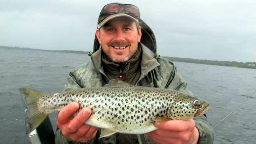
<instances>
[{"instance_id":1,"label":"pale grey overcast sky above the lake and shoreline","mask_svg":"<svg viewBox=\"0 0 256 144\"><path fill-rule=\"evenodd\" d=\"M92 51L109 0L1 0L0 45ZM256 61L256 0L129 0L161 56Z\"/></svg>"}]
</instances>

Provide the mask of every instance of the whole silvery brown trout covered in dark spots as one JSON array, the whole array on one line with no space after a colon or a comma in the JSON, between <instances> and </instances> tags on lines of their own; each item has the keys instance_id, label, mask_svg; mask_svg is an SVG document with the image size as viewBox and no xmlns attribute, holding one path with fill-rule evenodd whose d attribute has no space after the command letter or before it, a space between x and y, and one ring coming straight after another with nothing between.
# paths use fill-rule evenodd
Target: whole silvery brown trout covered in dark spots
<instances>
[{"instance_id":1,"label":"whole silvery brown trout covered in dark spots","mask_svg":"<svg viewBox=\"0 0 256 144\"><path fill-rule=\"evenodd\" d=\"M186 120L206 113L209 103L179 91L134 86L110 80L103 87L81 88L57 95L20 88L26 111L27 133L36 129L52 112L70 102L79 110L92 109L85 124L101 128L100 138L116 132L142 134L156 130L154 121ZM74 114L74 116L76 116Z\"/></svg>"}]
</instances>

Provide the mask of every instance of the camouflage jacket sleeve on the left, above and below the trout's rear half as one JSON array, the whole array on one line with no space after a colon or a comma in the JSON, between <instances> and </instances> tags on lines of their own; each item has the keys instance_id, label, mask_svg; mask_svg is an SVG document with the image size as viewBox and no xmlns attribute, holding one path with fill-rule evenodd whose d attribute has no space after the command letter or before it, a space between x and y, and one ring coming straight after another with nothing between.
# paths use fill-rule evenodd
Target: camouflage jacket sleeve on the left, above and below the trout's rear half
<instances>
[{"instance_id":1,"label":"camouflage jacket sleeve on the left, above and below the trout's rear half","mask_svg":"<svg viewBox=\"0 0 256 144\"><path fill-rule=\"evenodd\" d=\"M76 77L70 72L67 82L64 87L64 92L79 89L79 88L81 88L81 85L79 84L79 82L76 81ZM98 134L98 132L97 132L97 134ZM87 142L71 140L70 138L65 137L62 134L60 128L58 128L58 127L57 127L57 130L55 133L55 144L94 144L95 140L96 140L96 137Z\"/></svg>"}]
</instances>

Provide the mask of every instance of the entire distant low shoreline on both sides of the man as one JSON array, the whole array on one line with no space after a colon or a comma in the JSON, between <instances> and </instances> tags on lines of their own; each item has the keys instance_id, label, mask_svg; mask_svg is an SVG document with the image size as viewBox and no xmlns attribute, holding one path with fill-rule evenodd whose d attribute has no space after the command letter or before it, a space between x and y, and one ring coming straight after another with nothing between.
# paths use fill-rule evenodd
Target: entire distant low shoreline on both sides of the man
<instances>
[{"instance_id":1,"label":"entire distant low shoreline on both sides of the man","mask_svg":"<svg viewBox=\"0 0 256 144\"><path fill-rule=\"evenodd\" d=\"M71 50L42 50L42 49L32 49L32 48L20 48L20 47L9 47L9 46L0 46L0 48L17 48L17 49L27 49L27 50L40 50L48 52L68 52L68 53L81 53L88 54L85 51L71 51ZM172 61L178 62L188 62L188 63L198 63L198 64L207 64L207 65L217 65L217 66L228 66L228 67L238 67L238 68L253 68L256 69L256 62L237 62L237 61L219 61L219 60L199 60L199 59L190 59L190 58L177 58L177 57L167 57L163 56Z\"/></svg>"}]
</instances>

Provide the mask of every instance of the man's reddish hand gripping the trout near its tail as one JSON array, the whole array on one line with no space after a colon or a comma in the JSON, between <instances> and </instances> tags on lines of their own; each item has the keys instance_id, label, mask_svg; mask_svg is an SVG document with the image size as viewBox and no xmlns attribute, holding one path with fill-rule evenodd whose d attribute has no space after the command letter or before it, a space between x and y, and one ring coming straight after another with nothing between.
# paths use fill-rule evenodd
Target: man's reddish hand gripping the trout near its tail
<instances>
[{"instance_id":1,"label":"man's reddish hand gripping the trout near its tail","mask_svg":"<svg viewBox=\"0 0 256 144\"><path fill-rule=\"evenodd\" d=\"M72 116L76 110L78 110L79 104L72 102L60 110L57 117L57 125L60 128L62 134L75 141L88 141L95 137L98 128L84 124L84 122L92 114L90 108L83 108L72 120L69 117Z\"/></svg>"}]
</instances>

